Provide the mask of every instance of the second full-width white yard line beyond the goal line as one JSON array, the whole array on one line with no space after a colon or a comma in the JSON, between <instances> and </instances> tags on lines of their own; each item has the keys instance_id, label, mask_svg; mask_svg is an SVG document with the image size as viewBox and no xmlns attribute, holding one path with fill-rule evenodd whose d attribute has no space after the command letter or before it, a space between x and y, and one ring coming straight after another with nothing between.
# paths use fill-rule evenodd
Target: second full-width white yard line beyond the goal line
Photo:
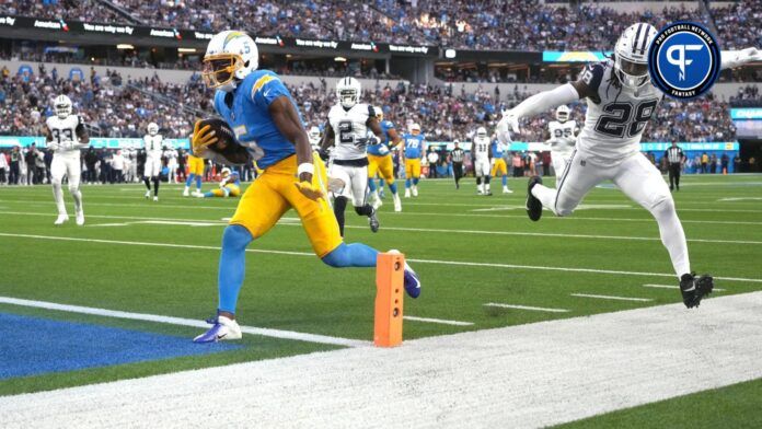
<instances>
[{"instance_id":1,"label":"second full-width white yard line beyond the goal line","mask_svg":"<svg viewBox=\"0 0 762 429\"><path fill-rule=\"evenodd\" d=\"M45 216L54 217L50 213L33 213L33 212L11 212L2 211L0 213L5 215L24 215L24 216ZM93 215L88 216L89 218L106 218L106 219L122 219L119 216L100 216ZM223 225L224 223L219 221L207 221L207 220L195 220L195 219L172 219L172 218L139 218L139 217L124 217L124 219L146 219L146 221L132 221L132 222L119 222L119 223L96 223L90 224L89 227L127 227L130 224L168 224L168 225L188 225L188 227L217 227ZM222 220L230 220L230 218L222 218ZM299 218L282 217L278 221L278 224L286 224L291 227L301 227L301 220ZM368 227L360 225L345 225L345 229L356 229L366 230ZM563 239L586 239L586 240L626 240L626 241L655 241L660 242L661 239L653 236L627 236L627 235L596 235L596 234L566 234L566 233L551 233L551 232L523 232L523 231L485 231L485 230L459 230L459 229L436 229L436 228L406 228L406 227L384 227L388 231L407 231L407 232L444 232L454 234L472 234L472 235L510 235L510 236L556 236ZM748 240L715 240L715 239L689 239L691 243L716 243L716 244L762 244L762 241L748 241Z\"/></svg>"}]
</instances>

